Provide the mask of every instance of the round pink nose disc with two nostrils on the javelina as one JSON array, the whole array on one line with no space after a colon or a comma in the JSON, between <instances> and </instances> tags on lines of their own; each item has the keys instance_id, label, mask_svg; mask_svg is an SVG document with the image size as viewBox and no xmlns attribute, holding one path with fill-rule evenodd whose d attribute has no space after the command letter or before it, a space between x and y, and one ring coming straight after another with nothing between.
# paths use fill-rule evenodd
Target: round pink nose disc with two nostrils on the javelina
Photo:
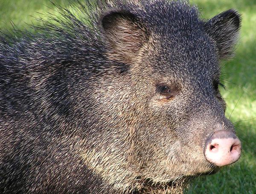
<instances>
[{"instance_id":1,"label":"round pink nose disc with two nostrils on the javelina","mask_svg":"<svg viewBox=\"0 0 256 194\"><path fill-rule=\"evenodd\" d=\"M225 166L236 162L241 155L241 142L237 136L227 130L214 132L206 141L204 156L216 166Z\"/></svg>"}]
</instances>

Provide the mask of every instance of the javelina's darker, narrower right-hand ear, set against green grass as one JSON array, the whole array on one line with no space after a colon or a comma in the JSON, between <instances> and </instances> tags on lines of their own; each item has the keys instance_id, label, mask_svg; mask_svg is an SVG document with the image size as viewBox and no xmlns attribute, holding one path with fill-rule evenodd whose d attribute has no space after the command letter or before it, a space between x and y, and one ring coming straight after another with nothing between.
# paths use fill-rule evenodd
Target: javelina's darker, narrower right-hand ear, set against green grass
<instances>
[{"instance_id":1,"label":"javelina's darker, narrower right-hand ear, set against green grass","mask_svg":"<svg viewBox=\"0 0 256 194\"><path fill-rule=\"evenodd\" d=\"M207 33L215 40L219 59L227 59L232 55L240 24L241 16L233 9L224 11L205 23Z\"/></svg>"}]
</instances>

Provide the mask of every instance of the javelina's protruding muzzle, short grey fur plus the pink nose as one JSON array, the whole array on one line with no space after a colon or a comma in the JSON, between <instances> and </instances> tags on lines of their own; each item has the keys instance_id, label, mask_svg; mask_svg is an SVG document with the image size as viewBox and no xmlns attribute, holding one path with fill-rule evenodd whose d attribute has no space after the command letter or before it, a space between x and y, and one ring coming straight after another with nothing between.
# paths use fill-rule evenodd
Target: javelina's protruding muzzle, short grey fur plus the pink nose
<instances>
[{"instance_id":1,"label":"javelina's protruding muzzle, short grey fur plus the pink nose","mask_svg":"<svg viewBox=\"0 0 256 194\"><path fill-rule=\"evenodd\" d=\"M235 135L233 124L224 115L224 102L212 95L204 96L201 93L200 100L198 95L196 96L196 99L192 99L192 103L187 105L188 109L193 111L190 112L189 124L183 129L190 134L184 139L184 144L190 142L188 147L192 147L201 141L201 147L204 149L201 149L201 152L203 151L205 159L215 166L236 162L241 155L241 142Z\"/></svg>"}]
</instances>

